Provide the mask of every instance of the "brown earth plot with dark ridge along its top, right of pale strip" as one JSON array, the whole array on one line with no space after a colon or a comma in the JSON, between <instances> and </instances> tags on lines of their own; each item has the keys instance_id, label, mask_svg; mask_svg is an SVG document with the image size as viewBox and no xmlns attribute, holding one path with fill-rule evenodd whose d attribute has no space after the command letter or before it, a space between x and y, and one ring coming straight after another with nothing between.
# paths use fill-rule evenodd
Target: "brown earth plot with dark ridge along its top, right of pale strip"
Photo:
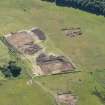
<instances>
[{"instance_id":1,"label":"brown earth plot with dark ridge along its top, right of pale strip","mask_svg":"<svg viewBox=\"0 0 105 105\"><path fill-rule=\"evenodd\" d=\"M44 75L69 72L74 69L72 63L64 56L40 54L36 62Z\"/></svg>"}]
</instances>

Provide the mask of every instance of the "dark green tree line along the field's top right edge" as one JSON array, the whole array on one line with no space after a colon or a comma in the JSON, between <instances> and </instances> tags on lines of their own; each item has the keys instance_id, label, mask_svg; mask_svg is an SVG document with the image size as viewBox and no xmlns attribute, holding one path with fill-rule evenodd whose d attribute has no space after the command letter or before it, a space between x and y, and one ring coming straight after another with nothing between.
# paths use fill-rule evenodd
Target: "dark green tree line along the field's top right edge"
<instances>
[{"instance_id":1,"label":"dark green tree line along the field's top right edge","mask_svg":"<svg viewBox=\"0 0 105 105\"><path fill-rule=\"evenodd\" d=\"M43 0L105 16L105 0Z\"/></svg>"}]
</instances>

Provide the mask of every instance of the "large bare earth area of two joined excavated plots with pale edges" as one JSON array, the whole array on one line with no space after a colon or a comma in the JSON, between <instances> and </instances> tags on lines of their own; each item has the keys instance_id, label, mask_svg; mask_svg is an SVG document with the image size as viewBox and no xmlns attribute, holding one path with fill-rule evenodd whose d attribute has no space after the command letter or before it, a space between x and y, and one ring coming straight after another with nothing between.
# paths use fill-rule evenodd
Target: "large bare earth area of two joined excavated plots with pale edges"
<instances>
[{"instance_id":1,"label":"large bare earth area of two joined excavated plots with pale edges","mask_svg":"<svg viewBox=\"0 0 105 105\"><path fill-rule=\"evenodd\" d=\"M75 69L65 56L47 54L40 42L46 40L44 32L39 28L18 31L5 35L6 44L10 49L21 53L32 65L32 72L36 76L68 73Z\"/></svg>"}]
</instances>

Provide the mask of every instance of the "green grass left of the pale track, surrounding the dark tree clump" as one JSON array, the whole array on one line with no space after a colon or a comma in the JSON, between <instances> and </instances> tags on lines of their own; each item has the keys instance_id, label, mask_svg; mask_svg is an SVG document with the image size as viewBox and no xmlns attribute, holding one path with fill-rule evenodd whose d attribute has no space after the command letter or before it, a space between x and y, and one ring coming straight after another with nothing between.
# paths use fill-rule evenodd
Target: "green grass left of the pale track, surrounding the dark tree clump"
<instances>
[{"instance_id":1,"label":"green grass left of the pale track, surrounding the dark tree clump","mask_svg":"<svg viewBox=\"0 0 105 105\"><path fill-rule=\"evenodd\" d=\"M9 53L8 48L0 41L0 66L10 60L16 60L16 54ZM18 78L6 79L0 72L0 105L53 105L55 101L49 93L34 83L27 84L31 79L26 72L30 65L20 59L17 64L22 68Z\"/></svg>"}]
</instances>

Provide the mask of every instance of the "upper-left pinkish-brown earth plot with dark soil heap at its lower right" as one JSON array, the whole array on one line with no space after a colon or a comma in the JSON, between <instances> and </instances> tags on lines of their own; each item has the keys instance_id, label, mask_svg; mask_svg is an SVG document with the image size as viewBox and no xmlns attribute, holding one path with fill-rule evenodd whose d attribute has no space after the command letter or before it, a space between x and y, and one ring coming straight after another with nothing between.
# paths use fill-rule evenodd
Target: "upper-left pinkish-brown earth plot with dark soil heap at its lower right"
<instances>
[{"instance_id":1,"label":"upper-left pinkish-brown earth plot with dark soil heap at its lower right","mask_svg":"<svg viewBox=\"0 0 105 105\"><path fill-rule=\"evenodd\" d=\"M11 33L6 37L6 41L10 47L20 53L32 55L41 50L41 47L34 43L31 34L26 31Z\"/></svg>"}]
</instances>

